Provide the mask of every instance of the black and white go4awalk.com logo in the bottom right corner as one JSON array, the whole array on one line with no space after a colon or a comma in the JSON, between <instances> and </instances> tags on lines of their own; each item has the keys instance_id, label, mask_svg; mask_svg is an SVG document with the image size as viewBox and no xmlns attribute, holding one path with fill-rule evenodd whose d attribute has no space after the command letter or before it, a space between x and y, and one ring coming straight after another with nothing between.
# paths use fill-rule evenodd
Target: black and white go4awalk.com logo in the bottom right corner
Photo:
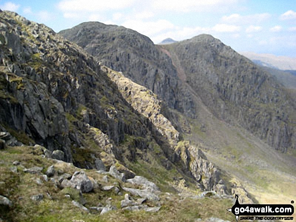
<instances>
[{"instance_id":1,"label":"black and white go4awalk.com logo in the bottom right corner","mask_svg":"<svg viewBox=\"0 0 296 222\"><path fill-rule=\"evenodd\" d=\"M294 207L291 204L240 204L235 194L235 204L227 209L235 215L236 221L248 220L293 220ZM294 203L294 201L291 201Z\"/></svg>"}]
</instances>

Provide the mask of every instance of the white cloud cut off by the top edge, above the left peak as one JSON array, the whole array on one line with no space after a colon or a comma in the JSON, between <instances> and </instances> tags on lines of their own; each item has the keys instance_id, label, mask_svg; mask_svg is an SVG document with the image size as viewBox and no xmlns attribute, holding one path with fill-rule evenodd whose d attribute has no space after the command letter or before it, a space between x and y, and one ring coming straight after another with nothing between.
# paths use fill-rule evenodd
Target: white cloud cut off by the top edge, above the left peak
<instances>
[{"instance_id":1,"label":"white cloud cut off by the top edge, above the left peak","mask_svg":"<svg viewBox=\"0 0 296 222\"><path fill-rule=\"evenodd\" d=\"M135 2L136 0L63 0L57 7L63 12L100 12L124 9Z\"/></svg>"}]
</instances>

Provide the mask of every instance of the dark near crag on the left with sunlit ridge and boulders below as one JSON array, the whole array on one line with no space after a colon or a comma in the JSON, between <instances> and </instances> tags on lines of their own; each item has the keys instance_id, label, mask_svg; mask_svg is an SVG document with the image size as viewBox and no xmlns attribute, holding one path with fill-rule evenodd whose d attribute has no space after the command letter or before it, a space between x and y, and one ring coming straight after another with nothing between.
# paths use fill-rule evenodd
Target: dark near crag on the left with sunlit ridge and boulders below
<instances>
[{"instance_id":1,"label":"dark near crag on the left with sunlit ridge and boulders below","mask_svg":"<svg viewBox=\"0 0 296 222\"><path fill-rule=\"evenodd\" d=\"M159 197L166 190L214 190L217 197L231 192L202 151L183 141L160 113L160 99L151 90L99 65L50 28L16 13L0 14L3 218L30 221L34 215L50 220L47 206L60 203L70 212L76 207L101 214L117 208L154 212L166 203ZM40 215L32 203L39 203Z\"/></svg>"}]
</instances>

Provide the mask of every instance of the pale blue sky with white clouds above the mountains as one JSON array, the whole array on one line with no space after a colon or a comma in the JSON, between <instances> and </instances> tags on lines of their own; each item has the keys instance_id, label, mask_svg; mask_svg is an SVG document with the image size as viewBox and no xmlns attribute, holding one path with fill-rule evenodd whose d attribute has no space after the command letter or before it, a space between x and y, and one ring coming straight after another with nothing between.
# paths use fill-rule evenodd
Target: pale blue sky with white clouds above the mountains
<instances>
[{"instance_id":1,"label":"pale blue sky with white clouds above the mountains","mask_svg":"<svg viewBox=\"0 0 296 222\"><path fill-rule=\"evenodd\" d=\"M55 32L98 21L136 30L155 44L206 33L238 52L296 57L295 0L0 0L0 9Z\"/></svg>"}]
</instances>

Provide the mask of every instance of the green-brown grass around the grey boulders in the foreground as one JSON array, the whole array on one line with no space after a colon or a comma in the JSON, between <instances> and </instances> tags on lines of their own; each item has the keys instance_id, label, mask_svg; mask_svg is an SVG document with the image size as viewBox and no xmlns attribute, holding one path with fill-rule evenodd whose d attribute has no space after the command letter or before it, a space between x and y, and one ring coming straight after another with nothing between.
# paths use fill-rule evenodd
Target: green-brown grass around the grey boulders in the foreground
<instances>
[{"instance_id":1,"label":"green-brown grass around the grey boulders in the foreground","mask_svg":"<svg viewBox=\"0 0 296 222\"><path fill-rule=\"evenodd\" d=\"M10 168L13 162L18 160L26 168L33 166L42 166L43 173L46 168L55 164L56 170L63 170L64 173L73 174L80 170L73 165L56 164L53 160L47 160L41 156L32 154L32 147L8 147L4 151L0 151L0 173L2 175L0 181L0 195L5 195L14 202L11 209L0 208L1 217L8 221L195 221L197 218L218 217L234 221L231 213L225 209L232 206L230 199L219 199L214 197L206 197L204 199L184 198L179 195L165 193L160 194L161 209L158 212L150 213L145 211L124 211L122 209L110 211L104 215L88 214L80 210L72 204L72 199L77 198L75 194L71 194L72 199L65 197L66 193L71 191L60 190L48 181L41 185L36 183L39 175L26 174L22 167L18 166L18 172L13 173ZM94 170L85 170L88 176L93 177L102 186L117 184L112 177L109 181L103 182L103 175L97 174ZM131 184L121 183L122 186L132 186ZM123 191L122 191L123 192ZM43 194L44 199L35 202L30 199L32 195ZM50 197L47 195L50 195ZM123 192L125 193L125 192ZM120 201L124 198L113 193L113 191L102 191L95 189L94 192L83 194L87 200L86 207L96 206L99 203L106 204L106 200L112 197L112 205L120 208ZM149 206L156 206L157 202L148 202Z\"/></svg>"}]
</instances>

